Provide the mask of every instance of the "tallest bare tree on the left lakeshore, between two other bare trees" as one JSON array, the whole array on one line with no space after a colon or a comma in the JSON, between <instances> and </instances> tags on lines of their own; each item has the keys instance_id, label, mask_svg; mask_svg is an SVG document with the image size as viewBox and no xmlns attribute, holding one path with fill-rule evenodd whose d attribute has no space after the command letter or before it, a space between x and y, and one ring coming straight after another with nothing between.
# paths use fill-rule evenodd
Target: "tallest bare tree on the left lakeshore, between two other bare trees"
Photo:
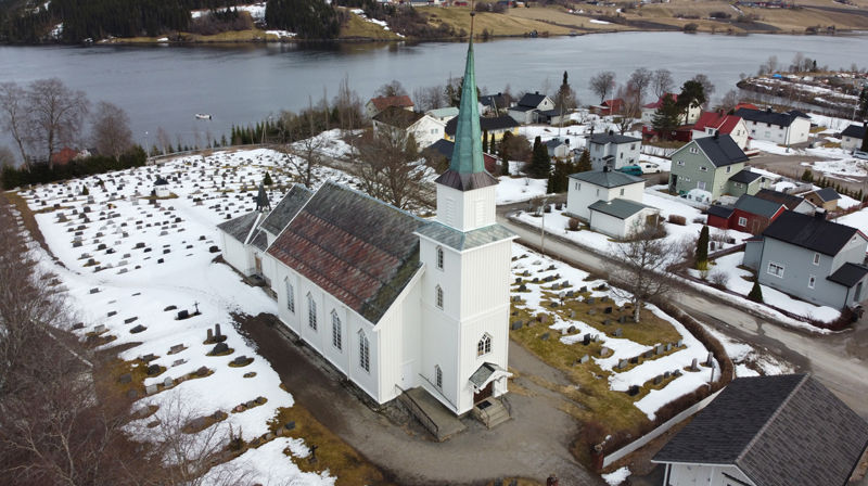
<instances>
[{"instance_id":1,"label":"tallest bare tree on the left lakeshore, between two other bare trees","mask_svg":"<svg viewBox=\"0 0 868 486\"><path fill-rule=\"evenodd\" d=\"M27 104L33 115L33 143L43 151L49 168L53 154L63 144L75 143L88 114L84 91L73 91L58 78L38 79L30 84Z\"/></svg>"}]
</instances>

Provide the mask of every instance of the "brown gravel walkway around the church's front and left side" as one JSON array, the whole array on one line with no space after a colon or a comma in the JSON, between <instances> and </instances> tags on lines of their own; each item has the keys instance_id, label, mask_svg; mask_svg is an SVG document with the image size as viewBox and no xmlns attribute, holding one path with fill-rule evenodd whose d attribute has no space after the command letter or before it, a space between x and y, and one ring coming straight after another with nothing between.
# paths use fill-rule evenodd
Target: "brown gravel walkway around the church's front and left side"
<instances>
[{"instance_id":1,"label":"brown gravel walkway around the church's front and left side","mask_svg":"<svg viewBox=\"0 0 868 486\"><path fill-rule=\"evenodd\" d=\"M569 382L512 342L510 369L516 371L514 383L522 388L508 395L512 420L490 431L468 420L465 432L436 443L421 426L401 427L371 411L310 348L293 344L269 327L272 319L263 317L245 322L242 330L295 400L400 485L478 484L502 476L545 482L551 473L561 486L604 484L570 453L578 426L559 410L564 398L536 383Z\"/></svg>"}]
</instances>

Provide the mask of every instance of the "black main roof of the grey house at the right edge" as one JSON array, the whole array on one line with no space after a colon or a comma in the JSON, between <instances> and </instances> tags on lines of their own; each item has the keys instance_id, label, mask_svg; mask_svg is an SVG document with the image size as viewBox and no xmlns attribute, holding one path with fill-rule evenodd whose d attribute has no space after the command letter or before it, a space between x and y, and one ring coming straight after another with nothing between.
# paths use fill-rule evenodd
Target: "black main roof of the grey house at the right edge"
<instances>
[{"instance_id":1,"label":"black main roof of the grey house at the right edge","mask_svg":"<svg viewBox=\"0 0 868 486\"><path fill-rule=\"evenodd\" d=\"M856 228L788 210L763 231L763 236L834 256L857 232Z\"/></svg>"}]
</instances>

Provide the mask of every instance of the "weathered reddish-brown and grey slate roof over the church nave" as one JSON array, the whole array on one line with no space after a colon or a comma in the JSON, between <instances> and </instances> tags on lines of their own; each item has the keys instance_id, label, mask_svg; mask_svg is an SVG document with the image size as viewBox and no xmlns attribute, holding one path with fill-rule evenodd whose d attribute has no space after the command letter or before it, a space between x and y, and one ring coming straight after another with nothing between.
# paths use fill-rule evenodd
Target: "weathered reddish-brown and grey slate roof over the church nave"
<instances>
[{"instance_id":1,"label":"weathered reddish-brown and grey slate roof over the church nave","mask_svg":"<svg viewBox=\"0 0 868 486\"><path fill-rule=\"evenodd\" d=\"M425 221L360 192L327 182L268 247L376 324L421 267Z\"/></svg>"}]
</instances>

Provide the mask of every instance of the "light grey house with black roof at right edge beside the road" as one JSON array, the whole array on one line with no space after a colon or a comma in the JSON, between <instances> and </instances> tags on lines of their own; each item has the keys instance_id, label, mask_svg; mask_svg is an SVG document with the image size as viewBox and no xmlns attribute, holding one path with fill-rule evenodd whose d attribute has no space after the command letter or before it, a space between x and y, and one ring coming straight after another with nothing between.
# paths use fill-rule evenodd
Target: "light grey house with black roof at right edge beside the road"
<instances>
[{"instance_id":1,"label":"light grey house with black roof at right edge beside the road","mask_svg":"<svg viewBox=\"0 0 868 486\"><path fill-rule=\"evenodd\" d=\"M856 228L786 212L763 234L748 240L742 264L763 285L837 309L865 298L868 238Z\"/></svg>"}]
</instances>

